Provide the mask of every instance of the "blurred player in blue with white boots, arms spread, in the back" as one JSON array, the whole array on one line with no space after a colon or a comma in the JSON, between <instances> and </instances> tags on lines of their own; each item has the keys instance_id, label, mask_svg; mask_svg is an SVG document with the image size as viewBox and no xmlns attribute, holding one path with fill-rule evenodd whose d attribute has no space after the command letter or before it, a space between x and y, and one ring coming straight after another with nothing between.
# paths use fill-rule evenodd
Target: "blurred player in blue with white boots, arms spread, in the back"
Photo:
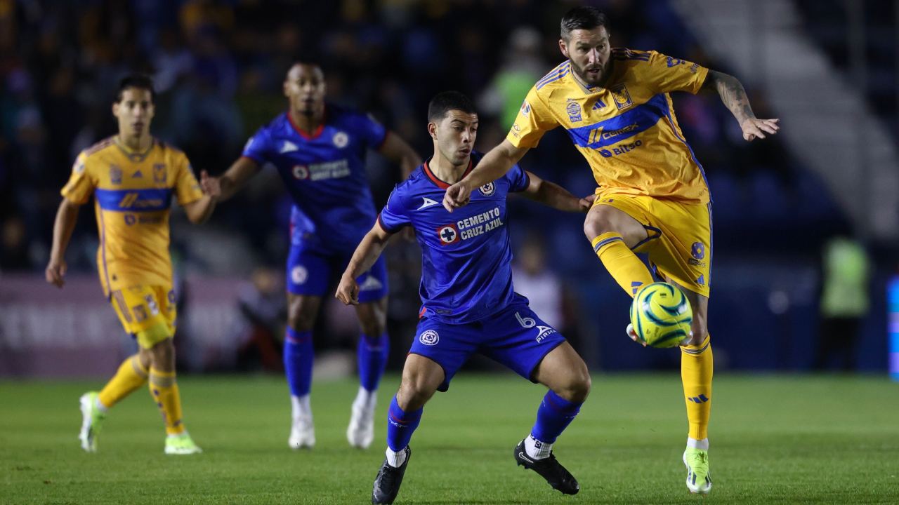
<instances>
[{"instance_id":1,"label":"blurred player in blue with white boots, arms spread, in the back","mask_svg":"<svg viewBox=\"0 0 899 505\"><path fill-rule=\"evenodd\" d=\"M365 155L377 150L400 165L403 174L420 162L412 147L396 134L356 111L325 103L325 75L320 66L297 63L284 80L288 111L259 128L244 154L209 190L227 199L263 165L278 170L294 201L287 262L288 328L284 368L290 388L290 447L316 443L309 404L312 383L312 329L322 296L333 275L343 271L353 249L375 221L377 212L365 174ZM369 447L374 436L378 382L387 363L387 269L378 261L360 271L360 305L356 307L360 387L352 403L347 439Z\"/></svg>"}]
</instances>

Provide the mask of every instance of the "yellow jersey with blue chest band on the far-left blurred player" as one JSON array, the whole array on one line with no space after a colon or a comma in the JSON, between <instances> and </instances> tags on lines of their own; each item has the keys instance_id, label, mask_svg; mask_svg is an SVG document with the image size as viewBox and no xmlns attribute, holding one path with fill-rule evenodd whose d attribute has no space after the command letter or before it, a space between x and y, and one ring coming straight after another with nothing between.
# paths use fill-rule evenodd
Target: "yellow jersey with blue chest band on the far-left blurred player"
<instances>
[{"instance_id":1,"label":"yellow jersey with blue chest band on the far-left blurred player","mask_svg":"<svg viewBox=\"0 0 899 505\"><path fill-rule=\"evenodd\" d=\"M61 191L76 204L93 195L100 247L97 270L103 292L136 285L172 286L169 208L203 196L182 151L153 139L143 153L115 137L78 155Z\"/></svg>"}]
</instances>

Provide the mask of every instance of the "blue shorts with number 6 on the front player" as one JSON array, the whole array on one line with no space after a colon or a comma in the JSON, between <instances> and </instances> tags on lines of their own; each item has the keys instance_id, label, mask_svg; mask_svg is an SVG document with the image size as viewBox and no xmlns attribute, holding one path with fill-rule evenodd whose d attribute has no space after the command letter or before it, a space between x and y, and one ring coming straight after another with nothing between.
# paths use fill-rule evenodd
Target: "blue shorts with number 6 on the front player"
<instances>
[{"instance_id":1,"label":"blue shorts with number 6 on the front player","mask_svg":"<svg viewBox=\"0 0 899 505\"><path fill-rule=\"evenodd\" d=\"M513 303L474 323L441 323L425 317L418 322L416 333L409 354L420 354L443 368L439 391L449 389L449 381L475 352L536 382L533 373L540 361L565 342L561 333L524 303Z\"/></svg>"}]
</instances>

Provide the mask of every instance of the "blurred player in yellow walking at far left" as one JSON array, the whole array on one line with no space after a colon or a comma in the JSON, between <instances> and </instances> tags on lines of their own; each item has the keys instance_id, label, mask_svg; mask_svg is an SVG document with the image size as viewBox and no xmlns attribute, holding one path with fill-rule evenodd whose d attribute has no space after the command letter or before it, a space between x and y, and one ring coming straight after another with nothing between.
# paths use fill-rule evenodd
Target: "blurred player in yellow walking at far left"
<instances>
[{"instance_id":1,"label":"blurred player in yellow walking at far left","mask_svg":"<svg viewBox=\"0 0 899 505\"><path fill-rule=\"evenodd\" d=\"M63 200L53 226L46 277L62 288L66 247L78 208L93 196L103 293L139 347L99 394L81 397L79 439L87 452L97 450L97 435L107 410L147 382L165 422L165 454L202 452L184 428L175 382L169 207L174 196L191 222L199 224L212 214L218 195L203 194L184 153L150 136L153 99L149 77L129 75L121 80L112 104L119 134L78 155L62 189Z\"/></svg>"}]
</instances>

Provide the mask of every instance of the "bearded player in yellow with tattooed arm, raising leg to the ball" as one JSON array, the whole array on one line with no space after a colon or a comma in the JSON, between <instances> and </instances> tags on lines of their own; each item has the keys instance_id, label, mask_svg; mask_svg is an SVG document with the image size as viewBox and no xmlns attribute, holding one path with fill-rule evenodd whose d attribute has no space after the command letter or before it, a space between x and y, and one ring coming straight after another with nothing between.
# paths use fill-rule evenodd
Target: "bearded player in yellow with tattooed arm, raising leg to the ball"
<instances>
[{"instance_id":1,"label":"bearded player in yellow with tattooed arm, raising leg to the ball","mask_svg":"<svg viewBox=\"0 0 899 505\"><path fill-rule=\"evenodd\" d=\"M681 343L681 378L689 434L683 462L690 492L707 493L712 349L706 326L712 226L708 184L674 116L672 91L717 90L750 141L777 133L778 120L752 113L731 75L655 51L610 47L608 22L593 7L562 18L559 49L567 58L530 89L503 142L446 191L448 209L506 173L540 137L562 126L599 188L583 224L593 251L628 295L653 275L635 253L679 286L693 307L692 334ZM628 335L635 339L633 329Z\"/></svg>"}]
</instances>

